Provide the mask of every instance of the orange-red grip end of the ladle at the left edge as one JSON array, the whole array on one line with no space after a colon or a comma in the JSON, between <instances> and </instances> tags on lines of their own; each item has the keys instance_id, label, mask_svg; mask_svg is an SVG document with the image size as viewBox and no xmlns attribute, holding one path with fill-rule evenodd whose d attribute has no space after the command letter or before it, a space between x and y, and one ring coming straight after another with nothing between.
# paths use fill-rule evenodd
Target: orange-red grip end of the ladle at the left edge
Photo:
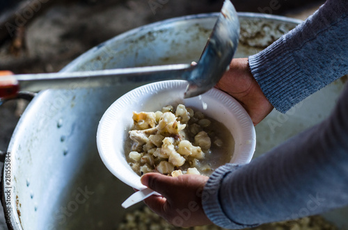
<instances>
[{"instance_id":1,"label":"orange-red grip end of the ladle at the left edge","mask_svg":"<svg viewBox=\"0 0 348 230\"><path fill-rule=\"evenodd\" d=\"M19 92L19 83L12 72L0 71L0 98L16 97Z\"/></svg>"}]
</instances>

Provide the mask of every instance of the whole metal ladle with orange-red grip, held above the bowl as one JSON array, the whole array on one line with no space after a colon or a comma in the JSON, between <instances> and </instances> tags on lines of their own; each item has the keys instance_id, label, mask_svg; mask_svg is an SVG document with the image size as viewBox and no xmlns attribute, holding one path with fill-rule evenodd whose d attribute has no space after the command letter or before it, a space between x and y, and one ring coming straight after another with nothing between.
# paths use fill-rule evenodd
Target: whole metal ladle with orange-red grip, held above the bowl
<instances>
[{"instance_id":1,"label":"whole metal ladle with orange-red grip, held above the bowl","mask_svg":"<svg viewBox=\"0 0 348 230\"><path fill-rule=\"evenodd\" d=\"M148 81L187 80L184 98L195 97L211 89L230 65L239 40L239 21L230 0L225 0L210 38L197 65L178 64L152 67L105 69L50 74L0 73L0 99L15 97L19 90L38 92L46 89L101 87Z\"/></svg>"}]
</instances>

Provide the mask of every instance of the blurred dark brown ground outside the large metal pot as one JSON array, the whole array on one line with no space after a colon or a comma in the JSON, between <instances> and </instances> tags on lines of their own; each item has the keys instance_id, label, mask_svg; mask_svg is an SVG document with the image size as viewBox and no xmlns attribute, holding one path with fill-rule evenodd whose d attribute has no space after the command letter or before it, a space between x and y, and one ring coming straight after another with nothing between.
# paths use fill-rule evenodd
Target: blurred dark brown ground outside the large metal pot
<instances>
[{"instance_id":1,"label":"blurred dark brown ground outside the large metal pot","mask_svg":"<svg viewBox=\"0 0 348 230\"><path fill-rule=\"evenodd\" d=\"M236 2L237 10L249 11L245 6L246 1ZM275 12L306 19L322 3L323 1L313 1L292 10L284 8L285 6L282 8L279 4L280 9ZM251 5L250 11L261 12L267 9L267 6L260 8L255 4ZM216 12L221 6L222 1L212 0L88 0L55 3L24 26L17 33L16 40L0 44L0 70L8 69L15 74L58 72L88 49L129 29L181 15ZM21 99L8 101L0 106L0 150L6 151L26 104ZM7 229L4 222L0 210L0 229Z\"/></svg>"}]
</instances>

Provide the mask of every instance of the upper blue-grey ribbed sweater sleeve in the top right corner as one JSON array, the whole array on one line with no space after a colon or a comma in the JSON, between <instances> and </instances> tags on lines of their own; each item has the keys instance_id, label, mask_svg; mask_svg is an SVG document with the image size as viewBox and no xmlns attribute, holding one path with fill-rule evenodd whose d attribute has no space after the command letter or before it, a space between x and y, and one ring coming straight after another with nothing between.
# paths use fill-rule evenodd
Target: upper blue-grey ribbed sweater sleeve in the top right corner
<instances>
[{"instance_id":1,"label":"upper blue-grey ribbed sweater sleeve in the top right corner","mask_svg":"<svg viewBox=\"0 0 348 230\"><path fill-rule=\"evenodd\" d=\"M251 73L269 102L285 113L348 73L348 1L328 0L317 12L258 54Z\"/></svg>"}]
</instances>

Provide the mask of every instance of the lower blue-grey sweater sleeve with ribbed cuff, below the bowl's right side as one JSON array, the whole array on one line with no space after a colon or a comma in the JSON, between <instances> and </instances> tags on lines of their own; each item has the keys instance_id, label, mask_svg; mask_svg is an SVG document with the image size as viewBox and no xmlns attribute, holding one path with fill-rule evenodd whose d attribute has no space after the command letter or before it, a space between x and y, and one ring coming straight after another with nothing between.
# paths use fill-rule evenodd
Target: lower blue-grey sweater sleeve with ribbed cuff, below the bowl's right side
<instances>
[{"instance_id":1,"label":"lower blue-grey sweater sleeve with ribbed cuff, below the bowl's right side","mask_svg":"<svg viewBox=\"0 0 348 230\"><path fill-rule=\"evenodd\" d=\"M219 167L203 208L228 229L292 220L348 204L348 88L333 114L248 165Z\"/></svg>"}]
</instances>

